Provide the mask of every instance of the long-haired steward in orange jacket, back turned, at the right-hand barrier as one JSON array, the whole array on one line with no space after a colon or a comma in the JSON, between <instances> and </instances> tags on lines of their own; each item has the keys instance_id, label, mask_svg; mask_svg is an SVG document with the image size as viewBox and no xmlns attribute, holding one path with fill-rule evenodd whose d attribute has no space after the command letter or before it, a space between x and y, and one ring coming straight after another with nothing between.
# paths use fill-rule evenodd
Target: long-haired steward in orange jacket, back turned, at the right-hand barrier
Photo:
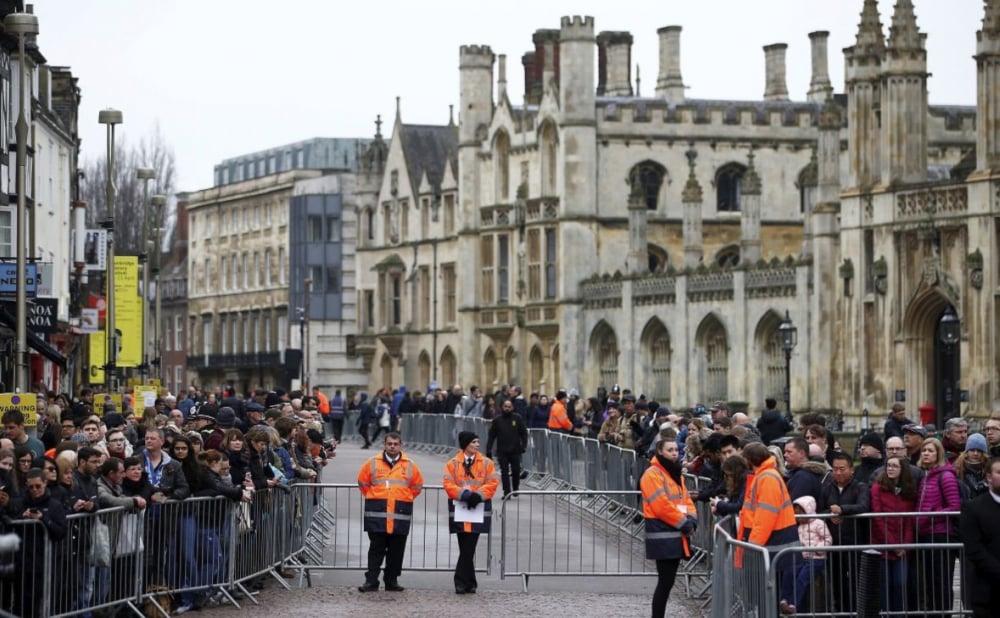
<instances>
[{"instance_id":1,"label":"long-haired steward in orange jacket, back turned, at the right-hand barrier","mask_svg":"<svg viewBox=\"0 0 1000 618\"><path fill-rule=\"evenodd\" d=\"M743 456L753 470L753 480L748 480L738 538L766 547L771 554L797 546L799 531L792 499L774 457L759 443L747 445ZM736 566L742 566L742 552L737 551L736 559Z\"/></svg>"}]
</instances>

